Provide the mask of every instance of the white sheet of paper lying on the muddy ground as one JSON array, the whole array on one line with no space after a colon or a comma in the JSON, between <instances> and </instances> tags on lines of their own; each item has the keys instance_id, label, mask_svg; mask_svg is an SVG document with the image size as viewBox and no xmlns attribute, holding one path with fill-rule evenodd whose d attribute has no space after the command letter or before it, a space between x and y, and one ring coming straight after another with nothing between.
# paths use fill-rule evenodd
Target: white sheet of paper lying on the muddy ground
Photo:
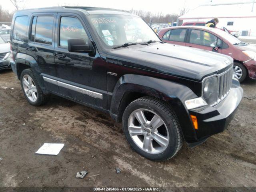
<instances>
[{"instance_id":1,"label":"white sheet of paper lying on the muddy ground","mask_svg":"<svg viewBox=\"0 0 256 192\"><path fill-rule=\"evenodd\" d=\"M44 143L43 146L38 149L36 154L58 155L63 147L64 144L62 143Z\"/></svg>"}]
</instances>

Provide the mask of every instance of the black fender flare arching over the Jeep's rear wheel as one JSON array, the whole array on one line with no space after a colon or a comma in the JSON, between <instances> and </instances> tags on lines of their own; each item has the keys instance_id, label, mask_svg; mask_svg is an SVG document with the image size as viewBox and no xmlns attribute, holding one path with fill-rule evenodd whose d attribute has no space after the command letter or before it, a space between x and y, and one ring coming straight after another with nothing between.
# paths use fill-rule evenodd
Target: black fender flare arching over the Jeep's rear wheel
<instances>
[{"instance_id":1,"label":"black fender flare arching over the Jeep's rear wheel","mask_svg":"<svg viewBox=\"0 0 256 192\"><path fill-rule=\"evenodd\" d=\"M16 72L17 72L18 79L20 79L20 74L23 70L23 69L19 69L20 68L19 65L20 64L23 64L23 66L26 65L26 66L28 66L27 68L31 68L34 71L34 74L38 80L38 84L42 88L43 92L45 94L48 93L45 89L44 79L40 75L41 70L38 66L38 63L32 56L19 52L16 54L15 63L16 63Z\"/></svg>"}]
</instances>

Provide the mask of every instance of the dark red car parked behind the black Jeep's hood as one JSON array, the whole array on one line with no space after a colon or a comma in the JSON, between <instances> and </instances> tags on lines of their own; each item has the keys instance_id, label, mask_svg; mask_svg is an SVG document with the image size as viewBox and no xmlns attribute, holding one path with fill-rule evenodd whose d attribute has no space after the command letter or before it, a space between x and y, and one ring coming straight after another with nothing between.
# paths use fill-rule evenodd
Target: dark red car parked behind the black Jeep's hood
<instances>
[{"instance_id":1,"label":"dark red car parked behind the black Jeep's hood","mask_svg":"<svg viewBox=\"0 0 256 192\"><path fill-rule=\"evenodd\" d=\"M256 46L241 42L238 38L218 28L204 26L169 27L160 30L158 35L167 43L231 56L234 59L234 76L240 82L247 76L256 79Z\"/></svg>"}]
</instances>

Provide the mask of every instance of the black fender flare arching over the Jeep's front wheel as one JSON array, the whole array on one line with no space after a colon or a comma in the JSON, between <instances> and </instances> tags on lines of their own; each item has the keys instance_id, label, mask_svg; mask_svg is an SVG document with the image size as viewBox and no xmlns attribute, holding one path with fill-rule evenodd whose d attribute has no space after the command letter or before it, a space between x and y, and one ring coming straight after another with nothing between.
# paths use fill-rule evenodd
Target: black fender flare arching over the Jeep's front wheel
<instances>
[{"instance_id":1,"label":"black fender flare arching over the Jeep's front wheel","mask_svg":"<svg viewBox=\"0 0 256 192\"><path fill-rule=\"evenodd\" d=\"M196 132L192 126L189 112L184 101L198 97L190 88L182 84L149 76L126 74L122 76L112 93L110 114L112 118L122 119L122 100L127 93L134 92L164 100L174 110L182 128L186 142L197 140Z\"/></svg>"}]
</instances>

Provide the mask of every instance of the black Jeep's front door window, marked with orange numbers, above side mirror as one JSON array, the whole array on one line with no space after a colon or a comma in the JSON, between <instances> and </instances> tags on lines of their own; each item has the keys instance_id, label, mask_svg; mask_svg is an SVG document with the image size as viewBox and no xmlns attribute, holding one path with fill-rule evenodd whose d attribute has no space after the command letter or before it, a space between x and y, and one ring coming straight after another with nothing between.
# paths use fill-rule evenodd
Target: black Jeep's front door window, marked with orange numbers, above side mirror
<instances>
[{"instance_id":1,"label":"black Jeep's front door window, marked with orange numbers, above side mirror","mask_svg":"<svg viewBox=\"0 0 256 192\"><path fill-rule=\"evenodd\" d=\"M86 34L82 23L77 18L61 17L60 19L60 46L67 48L68 39L82 38L85 44L88 44L88 35Z\"/></svg>"}]
</instances>

